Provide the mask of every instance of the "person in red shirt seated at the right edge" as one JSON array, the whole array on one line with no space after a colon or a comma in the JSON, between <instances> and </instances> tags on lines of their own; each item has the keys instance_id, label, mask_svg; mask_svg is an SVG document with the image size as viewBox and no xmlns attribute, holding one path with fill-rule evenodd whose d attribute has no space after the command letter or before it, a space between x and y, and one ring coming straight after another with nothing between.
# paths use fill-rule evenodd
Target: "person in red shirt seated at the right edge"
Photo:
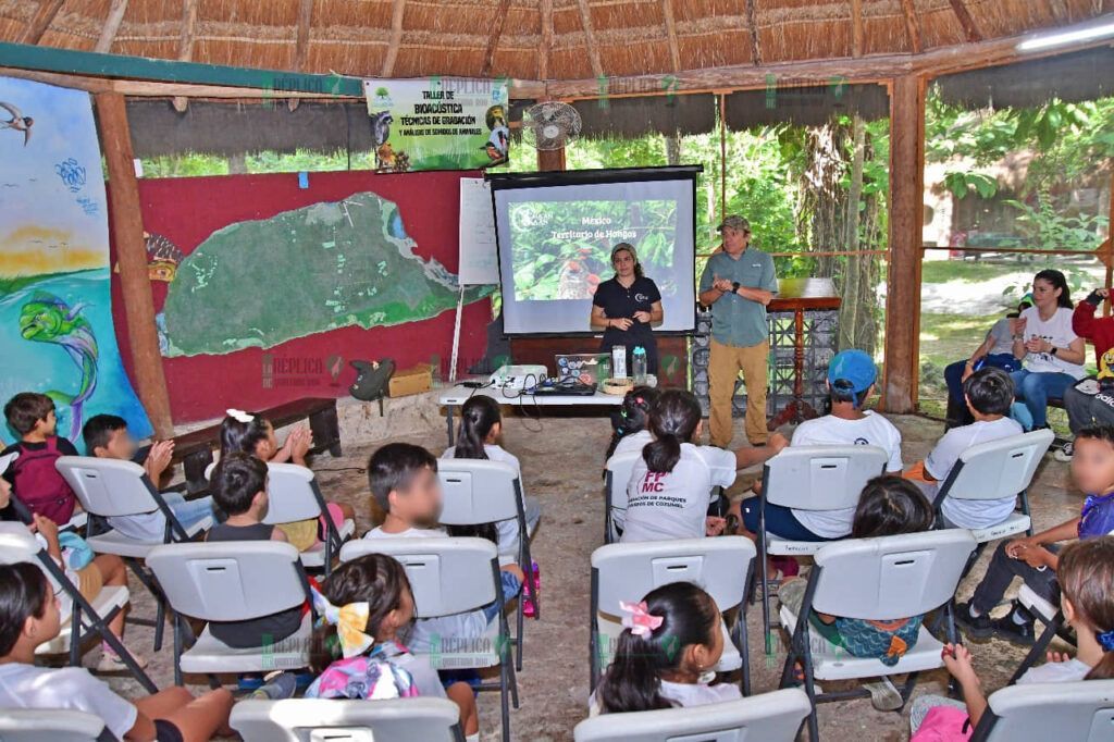
<instances>
[{"instance_id":1,"label":"person in red shirt seated at the right edge","mask_svg":"<svg viewBox=\"0 0 1114 742\"><path fill-rule=\"evenodd\" d=\"M1067 424L1073 436L1091 426L1114 424L1114 354L1107 357L1114 349L1114 316L1095 316L1110 295L1110 289L1095 289L1072 314L1072 329L1094 344L1098 364L1097 378L1084 379L1064 392ZM1074 455L1075 446L1069 441L1053 456L1057 461L1071 461Z\"/></svg>"}]
</instances>

